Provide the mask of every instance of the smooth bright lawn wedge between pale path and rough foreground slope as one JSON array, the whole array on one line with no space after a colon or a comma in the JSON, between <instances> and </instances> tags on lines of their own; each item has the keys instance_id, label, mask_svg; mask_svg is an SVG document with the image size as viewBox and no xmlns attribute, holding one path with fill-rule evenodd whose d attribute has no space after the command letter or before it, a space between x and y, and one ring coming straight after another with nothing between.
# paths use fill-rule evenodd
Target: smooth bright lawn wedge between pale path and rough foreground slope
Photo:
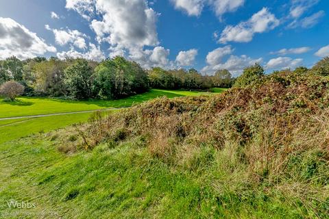
<instances>
[{"instance_id":1,"label":"smooth bright lawn wedge between pale path and rough foreground slope","mask_svg":"<svg viewBox=\"0 0 329 219\"><path fill-rule=\"evenodd\" d=\"M22 138L32 133L43 133L72 125L73 123L81 123L88 120L90 114L69 114L61 116L47 116L41 118L29 118L25 120L3 120L0 122L7 122L9 124L12 121L12 125L0 126L0 143L8 142L16 138ZM17 121L23 121L23 123L15 123Z\"/></svg>"}]
</instances>

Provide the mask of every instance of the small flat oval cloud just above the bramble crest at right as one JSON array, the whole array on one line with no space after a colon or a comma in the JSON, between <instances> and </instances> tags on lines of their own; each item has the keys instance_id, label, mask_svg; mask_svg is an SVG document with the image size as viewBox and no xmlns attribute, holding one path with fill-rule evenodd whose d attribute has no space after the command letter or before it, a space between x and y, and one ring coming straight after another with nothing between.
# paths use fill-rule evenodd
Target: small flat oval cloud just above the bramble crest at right
<instances>
[{"instance_id":1,"label":"small flat oval cloud just above the bramble crest at right","mask_svg":"<svg viewBox=\"0 0 329 219\"><path fill-rule=\"evenodd\" d=\"M266 68L273 70L282 70L287 68L296 68L302 65L302 59L293 60L291 57L277 57L267 62Z\"/></svg>"}]
</instances>

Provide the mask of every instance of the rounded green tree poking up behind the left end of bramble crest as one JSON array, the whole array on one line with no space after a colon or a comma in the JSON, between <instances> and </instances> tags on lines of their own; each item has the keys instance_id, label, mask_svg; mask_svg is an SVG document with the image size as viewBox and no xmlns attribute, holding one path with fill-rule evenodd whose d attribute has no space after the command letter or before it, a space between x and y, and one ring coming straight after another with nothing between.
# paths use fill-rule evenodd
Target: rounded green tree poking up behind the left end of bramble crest
<instances>
[{"instance_id":1,"label":"rounded green tree poking up behind the left end of bramble crest","mask_svg":"<svg viewBox=\"0 0 329 219\"><path fill-rule=\"evenodd\" d=\"M234 87L245 87L253 81L256 81L264 76L264 68L256 63L243 70L243 74L238 77L234 83Z\"/></svg>"}]
</instances>

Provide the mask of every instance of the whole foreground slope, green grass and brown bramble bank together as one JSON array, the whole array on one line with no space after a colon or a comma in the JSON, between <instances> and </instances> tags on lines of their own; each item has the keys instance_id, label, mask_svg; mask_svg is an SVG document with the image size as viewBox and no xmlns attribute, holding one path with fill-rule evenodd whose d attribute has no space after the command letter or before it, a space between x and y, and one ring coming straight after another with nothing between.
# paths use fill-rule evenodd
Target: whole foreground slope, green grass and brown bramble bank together
<instances>
[{"instance_id":1,"label":"whole foreground slope, green grass and brown bramble bank together","mask_svg":"<svg viewBox=\"0 0 329 219\"><path fill-rule=\"evenodd\" d=\"M73 218L328 218L328 86L281 73L95 114L3 146L12 168L0 171L0 196Z\"/></svg>"}]
</instances>

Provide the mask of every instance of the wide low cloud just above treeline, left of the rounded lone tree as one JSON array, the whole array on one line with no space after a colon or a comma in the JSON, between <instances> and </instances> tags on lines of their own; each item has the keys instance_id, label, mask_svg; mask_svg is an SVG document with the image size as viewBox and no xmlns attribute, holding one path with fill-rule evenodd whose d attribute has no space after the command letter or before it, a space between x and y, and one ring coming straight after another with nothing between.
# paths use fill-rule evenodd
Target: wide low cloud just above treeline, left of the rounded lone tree
<instances>
[{"instance_id":1,"label":"wide low cloud just above treeline, left of the rounded lone tree","mask_svg":"<svg viewBox=\"0 0 329 219\"><path fill-rule=\"evenodd\" d=\"M230 46L215 49L210 51L206 57L208 66L202 68L201 72L204 75L213 75L217 70L227 69L232 73L234 77L241 75L243 68L255 63L263 62L262 58L252 59L247 55L230 55L234 50ZM230 55L227 60L223 61L223 58Z\"/></svg>"}]
</instances>

